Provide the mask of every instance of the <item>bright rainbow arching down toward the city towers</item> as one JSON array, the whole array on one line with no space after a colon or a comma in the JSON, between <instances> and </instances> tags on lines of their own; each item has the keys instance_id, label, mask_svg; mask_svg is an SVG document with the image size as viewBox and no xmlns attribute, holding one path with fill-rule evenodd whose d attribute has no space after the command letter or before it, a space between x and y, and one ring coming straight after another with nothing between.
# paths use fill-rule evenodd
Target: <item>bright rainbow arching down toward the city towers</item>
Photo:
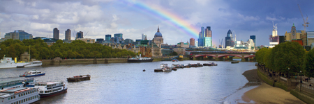
<instances>
[{"instance_id":1,"label":"bright rainbow arching down toward the city towers","mask_svg":"<svg viewBox=\"0 0 314 104\"><path fill-rule=\"evenodd\" d=\"M173 12L169 12L163 8L158 8L158 7L151 8L145 3L141 3L140 1L131 2L131 1L121 0L121 2L127 5L131 4L131 6L133 6L134 8L137 8L137 10L142 10L144 12L147 12L151 15L154 15L155 17L158 17L158 19L167 20L169 21L167 23L178 28L182 32L186 33L187 35L190 35L190 37L194 37L195 39L198 38L198 33L200 33L199 31L200 29L197 29L191 26L190 23L188 23L184 19L181 19L179 16L174 15L175 13Z\"/></svg>"}]
</instances>

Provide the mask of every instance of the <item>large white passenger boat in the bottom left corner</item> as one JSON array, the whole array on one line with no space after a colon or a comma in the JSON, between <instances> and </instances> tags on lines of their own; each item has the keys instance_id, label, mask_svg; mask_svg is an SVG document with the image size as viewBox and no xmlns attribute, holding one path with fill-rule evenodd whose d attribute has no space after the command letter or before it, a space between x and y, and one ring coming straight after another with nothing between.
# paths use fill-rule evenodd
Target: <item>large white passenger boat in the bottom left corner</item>
<instances>
[{"instance_id":1,"label":"large white passenger boat in the bottom left corner","mask_svg":"<svg viewBox=\"0 0 314 104\"><path fill-rule=\"evenodd\" d=\"M39 99L38 88L17 87L0 91L0 104L28 104Z\"/></svg>"}]
</instances>

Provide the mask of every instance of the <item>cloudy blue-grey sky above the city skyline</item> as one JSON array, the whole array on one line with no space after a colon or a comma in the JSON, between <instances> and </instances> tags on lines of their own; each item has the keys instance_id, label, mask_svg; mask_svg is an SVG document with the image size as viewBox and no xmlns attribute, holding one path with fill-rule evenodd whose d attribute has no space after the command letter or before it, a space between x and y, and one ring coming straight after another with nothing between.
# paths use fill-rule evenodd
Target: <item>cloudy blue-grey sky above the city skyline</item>
<instances>
[{"instance_id":1,"label":"cloudy blue-grey sky above the city skyline","mask_svg":"<svg viewBox=\"0 0 314 104\"><path fill-rule=\"evenodd\" d=\"M152 40L159 26L164 43L177 44L197 39L201 26L211 26L216 46L229 29L235 31L237 40L256 35L257 45L269 45L272 21L278 24L278 35L290 31L292 24L297 30L304 29L297 4L304 17L308 16L307 31L314 31L314 1L304 0L0 0L0 4L0 37L14 30L53 37L53 28L58 28L63 40L69 28L72 40L74 31L88 32L84 37L93 39L123 33L124 39L137 40L144 33ZM194 35L186 32L193 28L198 29Z\"/></svg>"}]
</instances>

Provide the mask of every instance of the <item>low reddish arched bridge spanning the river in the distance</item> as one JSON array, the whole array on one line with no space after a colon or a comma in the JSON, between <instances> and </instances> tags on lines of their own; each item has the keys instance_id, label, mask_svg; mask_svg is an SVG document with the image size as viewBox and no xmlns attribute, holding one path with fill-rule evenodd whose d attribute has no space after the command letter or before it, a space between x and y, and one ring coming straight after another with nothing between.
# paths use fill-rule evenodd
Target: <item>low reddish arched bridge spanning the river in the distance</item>
<instances>
[{"instance_id":1,"label":"low reddish arched bridge spanning the river in the distance","mask_svg":"<svg viewBox=\"0 0 314 104\"><path fill-rule=\"evenodd\" d=\"M255 60L255 52L190 51L190 55L201 60L232 60L234 57L241 58L241 61Z\"/></svg>"}]
</instances>

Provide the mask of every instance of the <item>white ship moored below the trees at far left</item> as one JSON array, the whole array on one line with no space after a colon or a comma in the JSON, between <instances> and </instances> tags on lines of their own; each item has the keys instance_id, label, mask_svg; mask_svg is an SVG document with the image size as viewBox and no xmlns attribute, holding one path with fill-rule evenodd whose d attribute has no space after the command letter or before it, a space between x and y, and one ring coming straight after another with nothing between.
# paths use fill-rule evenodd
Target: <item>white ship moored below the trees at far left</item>
<instances>
[{"instance_id":1,"label":"white ship moored below the trees at far left","mask_svg":"<svg viewBox=\"0 0 314 104\"><path fill-rule=\"evenodd\" d=\"M6 58L6 55L4 55L3 59L0 60L0 69L16 67L40 67L42 64L43 63L41 61L16 62L16 60L12 60L12 58Z\"/></svg>"}]
</instances>

